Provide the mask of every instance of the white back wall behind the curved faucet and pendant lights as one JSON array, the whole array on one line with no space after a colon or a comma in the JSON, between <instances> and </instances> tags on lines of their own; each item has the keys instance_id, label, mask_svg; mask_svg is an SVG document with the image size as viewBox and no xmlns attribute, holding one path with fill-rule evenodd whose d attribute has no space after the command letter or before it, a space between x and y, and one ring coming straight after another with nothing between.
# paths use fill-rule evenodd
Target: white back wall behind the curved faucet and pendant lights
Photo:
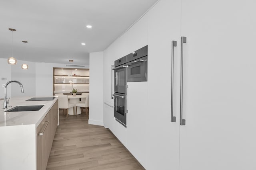
<instances>
[{"instance_id":1,"label":"white back wall behind the curved faucet and pendant lights","mask_svg":"<svg viewBox=\"0 0 256 170\"><path fill-rule=\"evenodd\" d=\"M28 70L23 70L21 65L28 64ZM20 81L24 86L24 94L20 91L20 86L12 83L7 87L7 97L15 96L52 96L53 90L53 67L67 67L66 64L58 63L34 63L18 60L16 65L7 63L7 59L0 59L0 86L10 80ZM89 68L85 65L84 68ZM13 87L13 88L12 88ZM4 98L4 88L0 90L0 98Z\"/></svg>"}]
</instances>

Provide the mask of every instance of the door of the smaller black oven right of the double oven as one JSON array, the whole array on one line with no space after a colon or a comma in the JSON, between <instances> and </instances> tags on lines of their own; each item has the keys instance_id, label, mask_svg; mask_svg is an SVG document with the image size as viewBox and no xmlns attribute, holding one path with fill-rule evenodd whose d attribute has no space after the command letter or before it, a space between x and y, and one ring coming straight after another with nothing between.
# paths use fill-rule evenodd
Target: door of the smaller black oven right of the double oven
<instances>
[{"instance_id":1,"label":"door of the smaller black oven right of the double oven","mask_svg":"<svg viewBox=\"0 0 256 170\"><path fill-rule=\"evenodd\" d=\"M147 56L131 61L127 65L127 82L147 81Z\"/></svg>"}]
</instances>

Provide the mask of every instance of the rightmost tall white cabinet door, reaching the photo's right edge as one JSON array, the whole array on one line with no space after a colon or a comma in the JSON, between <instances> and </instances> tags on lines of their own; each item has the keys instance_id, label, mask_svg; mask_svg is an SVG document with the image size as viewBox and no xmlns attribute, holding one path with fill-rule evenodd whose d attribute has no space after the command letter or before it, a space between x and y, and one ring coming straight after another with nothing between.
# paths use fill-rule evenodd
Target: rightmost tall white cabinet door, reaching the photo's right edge
<instances>
[{"instance_id":1,"label":"rightmost tall white cabinet door, reaching the photo's right edge","mask_svg":"<svg viewBox=\"0 0 256 170\"><path fill-rule=\"evenodd\" d=\"M180 170L255 170L256 2L182 0Z\"/></svg>"}]
</instances>

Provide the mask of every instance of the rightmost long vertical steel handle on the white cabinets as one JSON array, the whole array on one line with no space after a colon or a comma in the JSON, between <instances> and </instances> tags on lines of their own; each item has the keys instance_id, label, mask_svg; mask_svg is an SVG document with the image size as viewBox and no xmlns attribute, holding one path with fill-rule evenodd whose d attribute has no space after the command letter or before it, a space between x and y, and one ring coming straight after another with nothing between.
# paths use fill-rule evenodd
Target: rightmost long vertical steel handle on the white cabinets
<instances>
[{"instance_id":1,"label":"rightmost long vertical steel handle on the white cabinets","mask_svg":"<svg viewBox=\"0 0 256 170\"><path fill-rule=\"evenodd\" d=\"M187 42L187 37L181 37L180 41L180 125L185 125L186 120L182 118L183 106L183 44Z\"/></svg>"}]
</instances>

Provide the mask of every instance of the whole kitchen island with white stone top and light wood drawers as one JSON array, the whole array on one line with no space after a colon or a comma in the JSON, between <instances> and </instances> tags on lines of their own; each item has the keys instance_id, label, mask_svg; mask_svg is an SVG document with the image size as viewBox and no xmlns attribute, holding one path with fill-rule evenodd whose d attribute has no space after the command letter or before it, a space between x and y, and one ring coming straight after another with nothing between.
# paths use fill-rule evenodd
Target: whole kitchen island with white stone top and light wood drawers
<instances>
[{"instance_id":1,"label":"whole kitchen island with white stone top and light wood drawers","mask_svg":"<svg viewBox=\"0 0 256 170\"><path fill-rule=\"evenodd\" d=\"M58 97L48 101L26 101L32 97L34 96L10 98L8 106L12 107L8 109L15 106L44 105L39 111L5 112L1 104L1 170L46 168L50 154L48 148L51 148L58 124Z\"/></svg>"}]
</instances>

